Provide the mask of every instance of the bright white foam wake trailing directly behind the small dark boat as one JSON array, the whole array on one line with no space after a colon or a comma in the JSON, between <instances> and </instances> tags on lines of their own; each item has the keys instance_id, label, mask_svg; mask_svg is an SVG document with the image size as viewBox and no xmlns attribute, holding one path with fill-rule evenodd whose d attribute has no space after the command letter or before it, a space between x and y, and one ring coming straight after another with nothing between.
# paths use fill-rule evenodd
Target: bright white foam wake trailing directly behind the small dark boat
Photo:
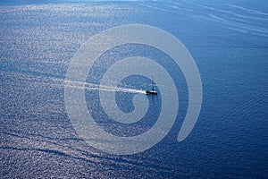
<instances>
[{"instance_id":1,"label":"bright white foam wake trailing directly behind the small dark boat","mask_svg":"<svg viewBox=\"0 0 268 179\"><path fill-rule=\"evenodd\" d=\"M130 88L119 88L119 87L109 87L89 82L81 82L81 81L64 81L64 85L77 88L77 89L86 89L86 90L106 90L106 91L118 91L118 92L125 92L125 93L141 93L146 94L146 90L136 90Z\"/></svg>"}]
</instances>

